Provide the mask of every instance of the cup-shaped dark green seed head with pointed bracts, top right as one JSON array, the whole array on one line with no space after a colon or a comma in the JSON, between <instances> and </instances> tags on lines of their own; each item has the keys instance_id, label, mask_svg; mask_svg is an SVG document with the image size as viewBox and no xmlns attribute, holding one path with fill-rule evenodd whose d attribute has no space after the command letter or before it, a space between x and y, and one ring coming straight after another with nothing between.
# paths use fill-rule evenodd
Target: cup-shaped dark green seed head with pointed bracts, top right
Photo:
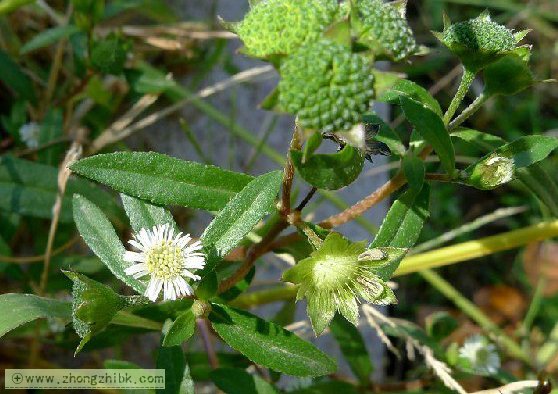
<instances>
[{"instance_id":1,"label":"cup-shaped dark green seed head with pointed bracts, top right","mask_svg":"<svg viewBox=\"0 0 558 394\"><path fill-rule=\"evenodd\" d=\"M490 19L488 12L465 22L450 24L434 35L458 56L464 66L478 71L511 53L528 31L514 33Z\"/></svg>"}]
</instances>

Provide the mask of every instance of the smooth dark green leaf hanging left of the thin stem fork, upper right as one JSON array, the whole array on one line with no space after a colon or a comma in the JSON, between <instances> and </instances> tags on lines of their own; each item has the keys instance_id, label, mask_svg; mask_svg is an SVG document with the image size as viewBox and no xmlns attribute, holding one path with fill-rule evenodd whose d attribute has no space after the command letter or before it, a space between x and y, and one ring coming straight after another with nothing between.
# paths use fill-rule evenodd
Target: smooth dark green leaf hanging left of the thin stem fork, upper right
<instances>
[{"instance_id":1,"label":"smooth dark green leaf hanging left of the thin stem fork, upper right","mask_svg":"<svg viewBox=\"0 0 558 394\"><path fill-rule=\"evenodd\" d=\"M452 176L455 169L455 152L442 118L428 107L407 97L401 97L400 101L407 120L432 145L442 166Z\"/></svg>"}]
</instances>

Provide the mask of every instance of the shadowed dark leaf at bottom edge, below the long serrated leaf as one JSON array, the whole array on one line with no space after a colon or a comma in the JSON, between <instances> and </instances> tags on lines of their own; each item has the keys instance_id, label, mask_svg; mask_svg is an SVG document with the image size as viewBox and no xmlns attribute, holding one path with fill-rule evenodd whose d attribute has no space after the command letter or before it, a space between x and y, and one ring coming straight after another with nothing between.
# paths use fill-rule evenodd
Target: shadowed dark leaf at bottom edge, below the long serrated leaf
<instances>
[{"instance_id":1,"label":"shadowed dark leaf at bottom edge, below the long serrated leaf","mask_svg":"<svg viewBox=\"0 0 558 394\"><path fill-rule=\"evenodd\" d=\"M240 368L219 368L211 372L211 380L226 394L276 394L273 386Z\"/></svg>"}]
</instances>

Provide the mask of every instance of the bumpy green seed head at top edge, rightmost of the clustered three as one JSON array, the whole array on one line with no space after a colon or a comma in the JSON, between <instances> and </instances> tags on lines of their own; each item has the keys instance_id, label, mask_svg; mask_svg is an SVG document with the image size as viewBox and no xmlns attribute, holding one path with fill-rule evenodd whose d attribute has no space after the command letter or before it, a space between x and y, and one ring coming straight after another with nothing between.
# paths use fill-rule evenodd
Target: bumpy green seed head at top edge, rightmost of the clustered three
<instances>
[{"instance_id":1,"label":"bumpy green seed head at top edge, rightmost of the clustered three","mask_svg":"<svg viewBox=\"0 0 558 394\"><path fill-rule=\"evenodd\" d=\"M417 52L405 8L382 0L357 2L360 40L378 56L400 61Z\"/></svg>"}]
</instances>

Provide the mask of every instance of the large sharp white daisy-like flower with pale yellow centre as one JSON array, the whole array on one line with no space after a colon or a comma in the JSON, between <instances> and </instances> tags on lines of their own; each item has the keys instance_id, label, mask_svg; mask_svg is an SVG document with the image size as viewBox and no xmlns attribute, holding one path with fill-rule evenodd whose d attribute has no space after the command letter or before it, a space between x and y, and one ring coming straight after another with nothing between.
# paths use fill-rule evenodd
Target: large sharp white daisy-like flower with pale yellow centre
<instances>
[{"instance_id":1,"label":"large sharp white daisy-like flower with pale yellow centre","mask_svg":"<svg viewBox=\"0 0 558 394\"><path fill-rule=\"evenodd\" d=\"M191 242L190 234L174 234L171 225L142 228L128 241L139 252L127 250L124 260L136 263L126 268L126 274L138 279L149 275L150 280L145 296L156 301L161 289L164 300L176 300L193 294L192 287L184 279L200 280L192 270L205 266L205 255L201 252L200 241Z\"/></svg>"}]
</instances>

